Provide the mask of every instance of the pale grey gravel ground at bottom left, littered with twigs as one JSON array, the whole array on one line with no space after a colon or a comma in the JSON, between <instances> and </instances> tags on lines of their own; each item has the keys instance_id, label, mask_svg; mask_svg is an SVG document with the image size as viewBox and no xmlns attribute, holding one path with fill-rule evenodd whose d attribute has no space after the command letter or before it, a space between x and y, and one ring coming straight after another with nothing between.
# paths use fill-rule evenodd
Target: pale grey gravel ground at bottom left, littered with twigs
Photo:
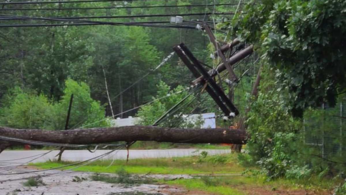
<instances>
[{"instance_id":1,"label":"pale grey gravel ground at bottom left, littered with twigs","mask_svg":"<svg viewBox=\"0 0 346 195\"><path fill-rule=\"evenodd\" d=\"M32 167L22 167L11 172L25 172L34 170ZM25 187L23 183L26 180L5 181L0 183L0 194L5 195L111 195L111 194L155 194L155 195L171 195L171 194L188 194L187 190L178 187L170 187L167 185L142 184L131 187L118 184L108 184L102 181L92 181L90 179L75 182L75 176L79 178L89 178L93 173L86 172L65 172L60 170L50 170L40 173L42 176L51 173L57 173L49 177L42 177L44 186ZM22 175L0 176L0 180L24 178L36 176L37 173L26 173ZM184 177L183 175L174 177ZM167 179L173 176L167 176Z\"/></svg>"}]
</instances>

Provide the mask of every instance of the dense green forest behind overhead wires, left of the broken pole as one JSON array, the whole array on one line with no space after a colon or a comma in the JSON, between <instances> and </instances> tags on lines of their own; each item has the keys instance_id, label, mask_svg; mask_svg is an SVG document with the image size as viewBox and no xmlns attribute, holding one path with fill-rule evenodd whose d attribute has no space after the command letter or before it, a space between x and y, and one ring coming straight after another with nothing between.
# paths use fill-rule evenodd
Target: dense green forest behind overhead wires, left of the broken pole
<instances>
[{"instance_id":1,"label":"dense green forest behind overhead wires, left of the broken pole","mask_svg":"<svg viewBox=\"0 0 346 195\"><path fill-rule=\"evenodd\" d=\"M225 3L229 1L219 1ZM204 3L204 2L203 2ZM210 2L209 2L210 3ZM6 5L4 8L87 8L119 6L200 5L200 1L133 1L60 3L41 5ZM215 10L214 10L215 9ZM235 6L216 7L167 7L96 10L12 10L6 14L35 17L75 17L113 15L152 15L174 13L204 13L231 11ZM4 12L5 13L5 12ZM232 16L225 16L227 17ZM184 20L206 19L213 16L187 16ZM169 21L169 17L99 19L111 22ZM217 17L217 19L222 19ZM3 21L13 24L12 20ZM15 20L16 24L28 21ZM34 20L33 24L43 23ZM55 22L48 22L55 23ZM71 78L90 86L91 96L102 104L107 103L104 75L109 85L115 113L136 107L156 94L160 80L172 86L186 85L189 71L174 57L155 74L118 95L139 77L155 68L172 52L172 46L185 42L202 61L208 58L208 39L194 29L149 28L135 26L60 26L1 29L0 97L15 86L31 89L59 101L65 88L65 80ZM135 112L128 115L134 115ZM107 107L110 115L110 107Z\"/></svg>"}]
</instances>

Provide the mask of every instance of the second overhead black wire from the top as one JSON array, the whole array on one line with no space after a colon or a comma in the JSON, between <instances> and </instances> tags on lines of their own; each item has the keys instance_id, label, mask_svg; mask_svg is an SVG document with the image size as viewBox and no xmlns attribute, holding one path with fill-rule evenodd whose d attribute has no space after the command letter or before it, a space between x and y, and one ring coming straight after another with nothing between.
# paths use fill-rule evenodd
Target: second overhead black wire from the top
<instances>
[{"instance_id":1,"label":"second overhead black wire from the top","mask_svg":"<svg viewBox=\"0 0 346 195\"><path fill-rule=\"evenodd\" d=\"M247 3L243 3L246 5ZM238 5L238 3L220 3L215 6ZM130 7L89 7L89 8L8 8L0 9L0 11L26 11L26 10L90 10L90 9L131 9L131 8L173 8L173 7L203 7L206 5L163 5L163 6L130 6ZM209 5L211 6L211 5Z\"/></svg>"}]
</instances>

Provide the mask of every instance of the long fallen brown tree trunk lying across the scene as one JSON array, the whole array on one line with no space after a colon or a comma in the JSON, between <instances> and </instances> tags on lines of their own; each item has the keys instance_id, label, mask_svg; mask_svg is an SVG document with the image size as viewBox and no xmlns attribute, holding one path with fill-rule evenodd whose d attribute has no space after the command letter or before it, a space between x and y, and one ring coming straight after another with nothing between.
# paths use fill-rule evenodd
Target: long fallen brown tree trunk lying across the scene
<instances>
[{"instance_id":1,"label":"long fallen brown tree trunk lying across the scene","mask_svg":"<svg viewBox=\"0 0 346 195\"><path fill-rule=\"evenodd\" d=\"M178 129L154 126L124 126L56 131L0 127L0 135L61 144L100 144L118 141L245 144L247 140L246 132L238 129ZM24 145L24 143L6 141L0 138L0 152L9 146L15 145Z\"/></svg>"}]
</instances>

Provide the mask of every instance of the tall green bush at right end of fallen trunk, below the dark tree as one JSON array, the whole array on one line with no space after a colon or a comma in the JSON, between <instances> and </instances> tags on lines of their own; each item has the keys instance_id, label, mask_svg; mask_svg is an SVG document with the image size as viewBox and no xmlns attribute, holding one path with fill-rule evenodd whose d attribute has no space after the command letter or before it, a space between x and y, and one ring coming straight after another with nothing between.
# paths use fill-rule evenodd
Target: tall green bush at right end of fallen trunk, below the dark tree
<instances>
[{"instance_id":1,"label":"tall green bush at right end of fallen trunk, below the dark tree","mask_svg":"<svg viewBox=\"0 0 346 195\"><path fill-rule=\"evenodd\" d=\"M272 69L264 66L263 74L266 79L261 81L261 91L248 113L251 135L246 147L248 154L240 154L239 160L243 164L257 164L268 179L273 179L285 176L297 162L300 143L297 132L302 123L292 117L286 93L275 90L277 83L272 79Z\"/></svg>"}]
</instances>

